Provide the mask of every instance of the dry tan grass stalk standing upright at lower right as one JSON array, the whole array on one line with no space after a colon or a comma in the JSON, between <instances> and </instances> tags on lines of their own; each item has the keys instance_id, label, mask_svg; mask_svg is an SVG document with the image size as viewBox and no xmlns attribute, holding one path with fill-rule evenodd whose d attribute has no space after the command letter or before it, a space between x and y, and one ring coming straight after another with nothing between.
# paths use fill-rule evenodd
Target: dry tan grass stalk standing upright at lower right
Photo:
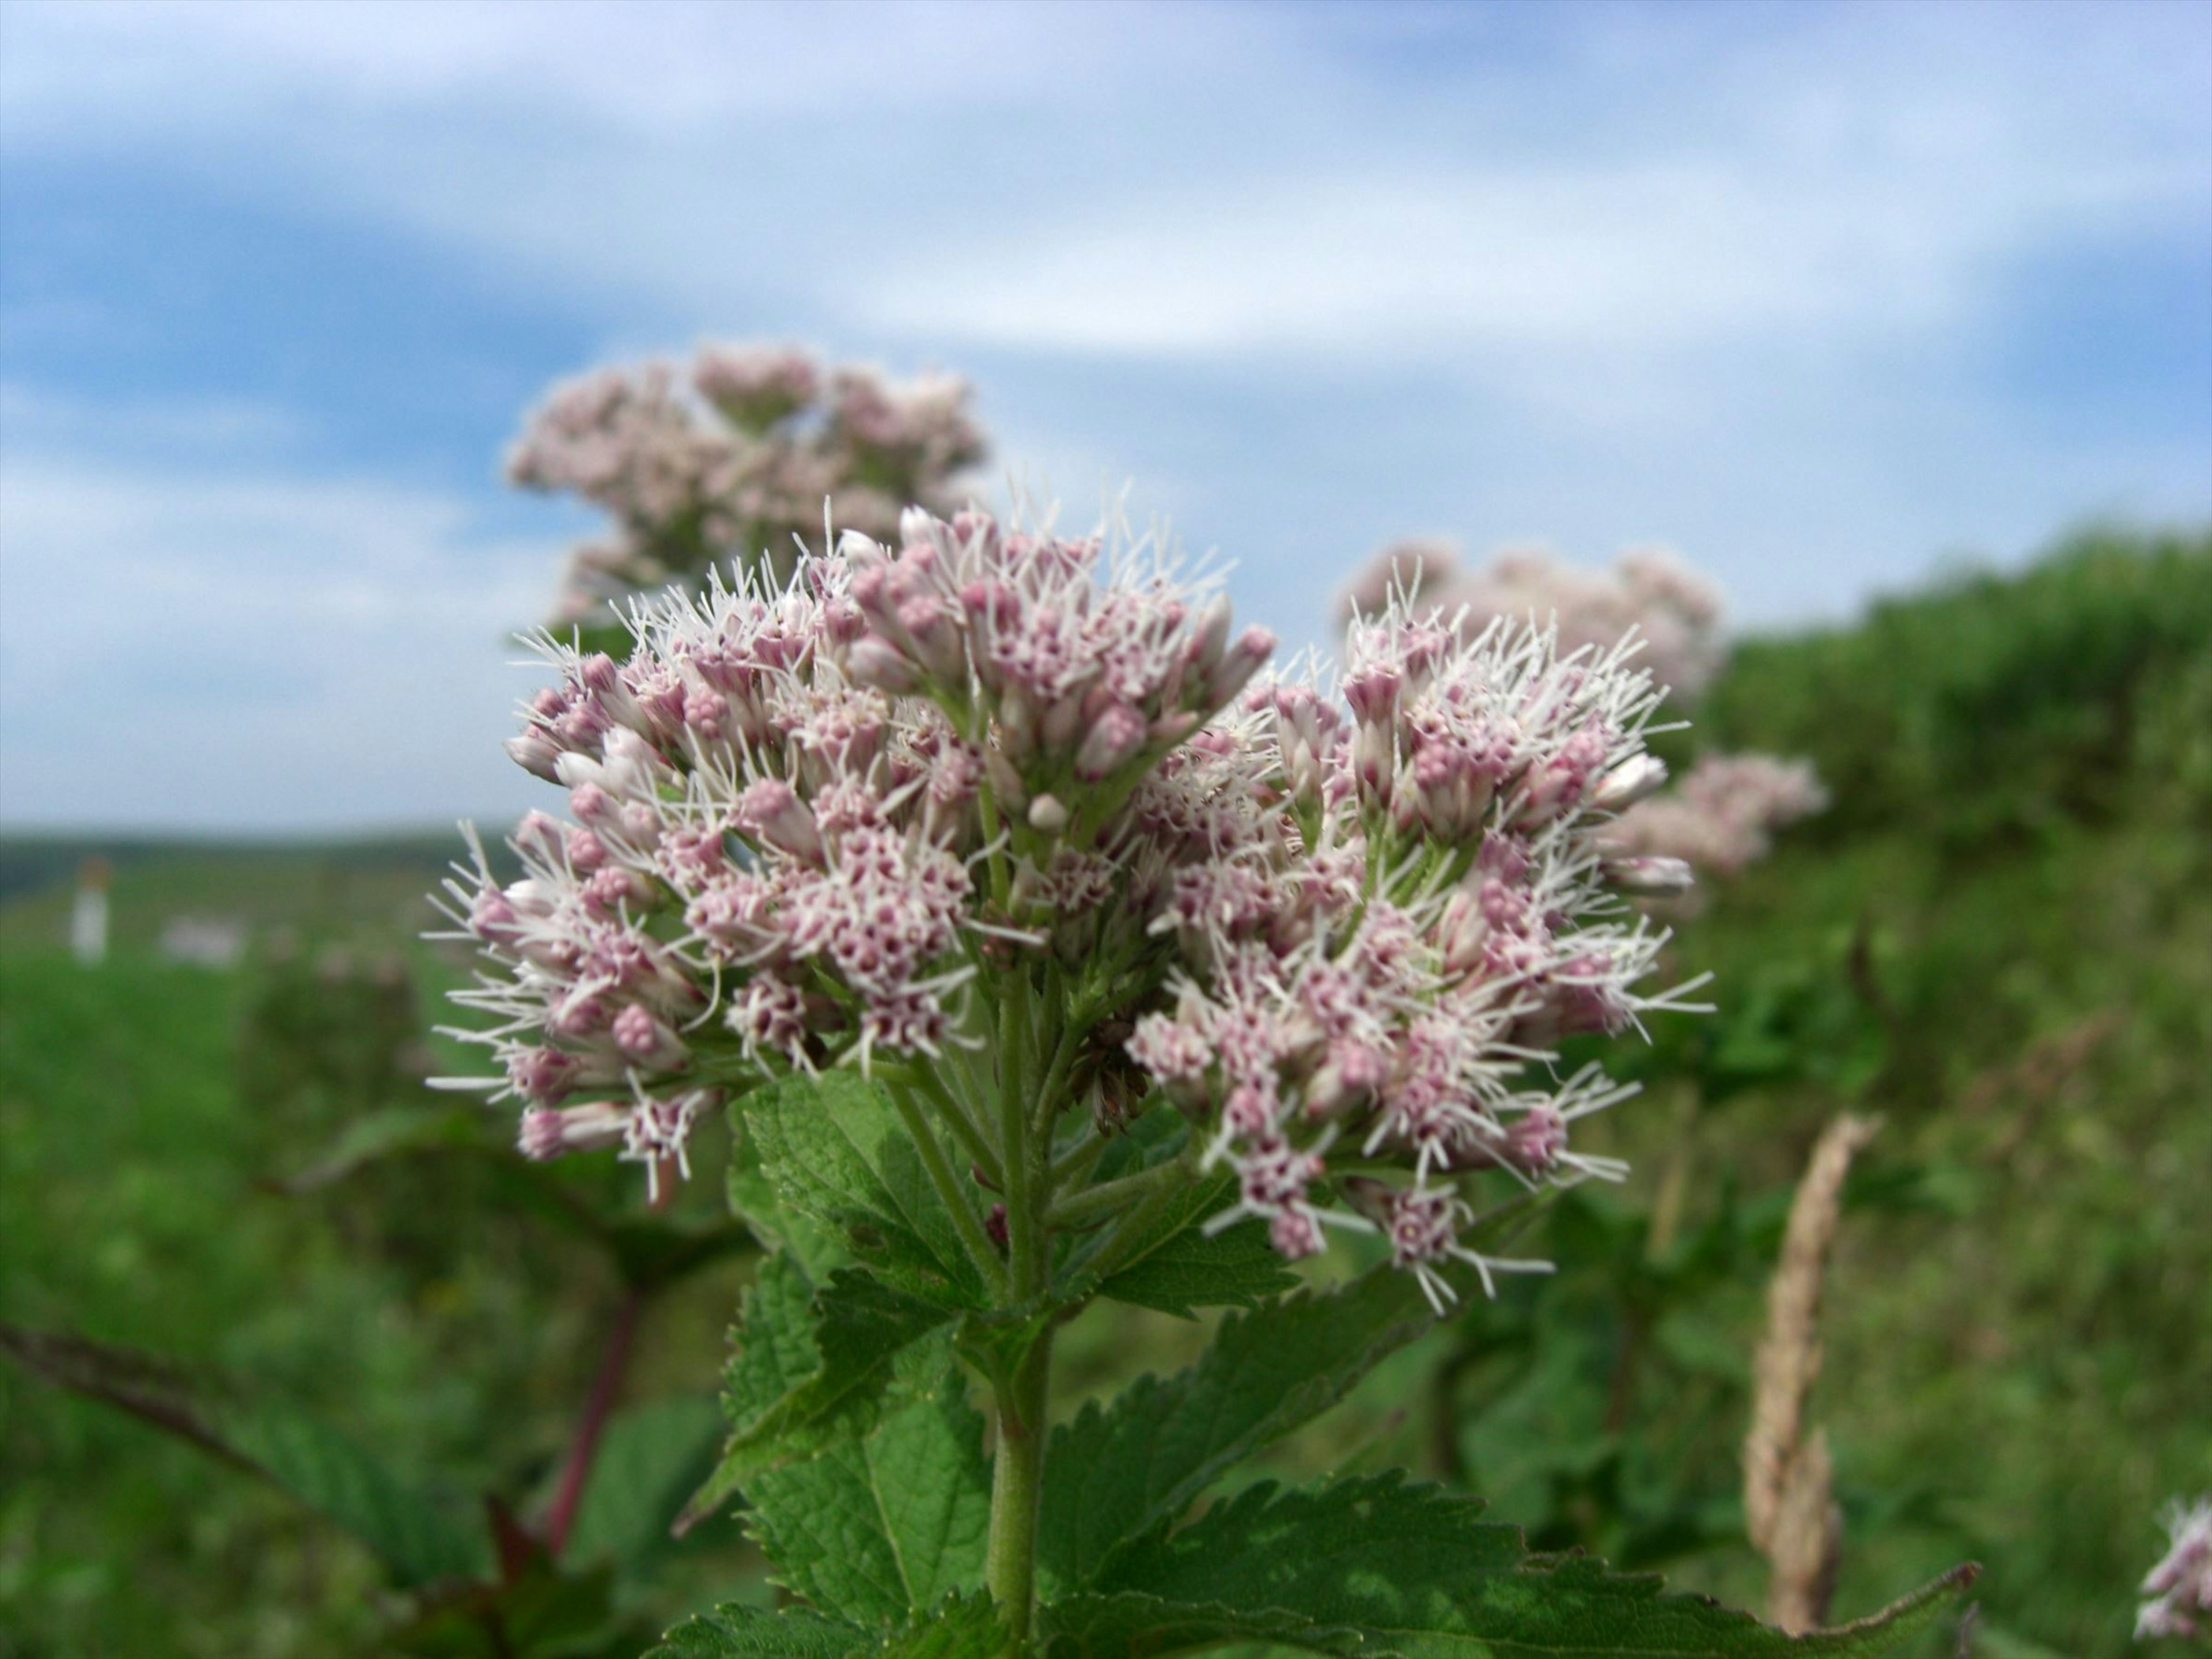
<instances>
[{"instance_id":1,"label":"dry tan grass stalk standing upright at lower right","mask_svg":"<svg viewBox=\"0 0 2212 1659\"><path fill-rule=\"evenodd\" d=\"M1843 1115L1823 1130L1790 1203L1783 1259L1767 1285L1767 1334L1752 1380L1752 1429L1743 1440L1743 1522L1767 1557L1767 1619L1814 1630L1827 1619L1843 1557L1827 1436L1805 1425L1820 1376L1820 1292L1836 1243L1843 1177L1878 1124Z\"/></svg>"}]
</instances>

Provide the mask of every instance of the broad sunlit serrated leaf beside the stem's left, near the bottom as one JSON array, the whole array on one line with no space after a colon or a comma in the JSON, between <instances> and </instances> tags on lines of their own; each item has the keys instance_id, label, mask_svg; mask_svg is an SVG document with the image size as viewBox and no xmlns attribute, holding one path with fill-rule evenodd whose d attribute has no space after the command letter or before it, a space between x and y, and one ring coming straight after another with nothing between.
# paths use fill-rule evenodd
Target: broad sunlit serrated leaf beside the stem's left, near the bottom
<instances>
[{"instance_id":1,"label":"broad sunlit serrated leaf beside the stem's left, near the bottom","mask_svg":"<svg viewBox=\"0 0 2212 1659\"><path fill-rule=\"evenodd\" d=\"M982 1582L984 1420L949 1334L925 1338L916 1354L933 1360L933 1387L885 1409L867 1436L745 1484L748 1526L779 1582L823 1610L905 1619Z\"/></svg>"}]
</instances>

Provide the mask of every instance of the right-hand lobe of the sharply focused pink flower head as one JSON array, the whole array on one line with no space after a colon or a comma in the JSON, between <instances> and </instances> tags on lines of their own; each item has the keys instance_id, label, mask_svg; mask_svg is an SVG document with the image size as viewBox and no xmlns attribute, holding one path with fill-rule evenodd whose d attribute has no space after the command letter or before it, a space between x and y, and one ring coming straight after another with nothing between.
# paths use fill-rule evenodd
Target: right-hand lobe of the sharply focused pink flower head
<instances>
[{"instance_id":1,"label":"right-hand lobe of the sharply focused pink flower head","mask_svg":"<svg viewBox=\"0 0 2212 1659\"><path fill-rule=\"evenodd\" d=\"M1256 810L1217 816L1172 874L1150 922L1177 942L1170 1006L1128 1051L1237 1170L1223 1221L1265 1217L1287 1256L1323 1223L1380 1225L1440 1301L1451 1256L1484 1283L1542 1265L1460 1241L1455 1177L1619 1175L1568 1137L1626 1091L1542 1062L1681 1006L1639 995L1661 936L1619 891L1688 872L1597 843L1666 776L1641 752L1657 692L1626 650L1562 655L1502 622L1469 639L1394 606L1352 626L1340 690L1267 681L1164 770ZM1135 805L1141 823L1148 792ZM1349 1210L1325 1206L1329 1168Z\"/></svg>"}]
</instances>

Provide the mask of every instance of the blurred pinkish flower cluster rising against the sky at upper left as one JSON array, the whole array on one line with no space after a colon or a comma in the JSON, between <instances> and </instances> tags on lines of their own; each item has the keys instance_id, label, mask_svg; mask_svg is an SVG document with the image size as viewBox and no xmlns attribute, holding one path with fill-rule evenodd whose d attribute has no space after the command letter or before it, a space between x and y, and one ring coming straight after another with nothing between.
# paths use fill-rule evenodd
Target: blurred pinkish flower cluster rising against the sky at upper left
<instances>
[{"instance_id":1,"label":"blurred pinkish flower cluster rising against the sky at upper left","mask_svg":"<svg viewBox=\"0 0 2212 1659\"><path fill-rule=\"evenodd\" d=\"M611 602L730 562L787 573L825 502L838 524L891 538L909 502L951 511L951 480L982 456L964 380L703 345L681 372L644 363L553 387L507 476L615 520L571 555L557 619L573 624L613 622Z\"/></svg>"}]
</instances>

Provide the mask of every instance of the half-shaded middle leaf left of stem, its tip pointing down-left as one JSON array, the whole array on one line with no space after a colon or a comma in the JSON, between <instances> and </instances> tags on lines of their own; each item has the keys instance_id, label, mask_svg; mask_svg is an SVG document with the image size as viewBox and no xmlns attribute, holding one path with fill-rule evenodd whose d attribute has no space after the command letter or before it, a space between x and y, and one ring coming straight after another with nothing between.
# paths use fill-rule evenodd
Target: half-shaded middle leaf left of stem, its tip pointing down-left
<instances>
[{"instance_id":1,"label":"half-shaded middle leaf left of stem, its tip pointing down-left","mask_svg":"<svg viewBox=\"0 0 2212 1659\"><path fill-rule=\"evenodd\" d=\"M951 1318L854 1267L816 1292L794 1256L761 1263L723 1371L730 1440L677 1526L690 1528L763 1469L865 1433L898 1378L900 1356ZM933 1365L911 1380L933 1385Z\"/></svg>"}]
</instances>

